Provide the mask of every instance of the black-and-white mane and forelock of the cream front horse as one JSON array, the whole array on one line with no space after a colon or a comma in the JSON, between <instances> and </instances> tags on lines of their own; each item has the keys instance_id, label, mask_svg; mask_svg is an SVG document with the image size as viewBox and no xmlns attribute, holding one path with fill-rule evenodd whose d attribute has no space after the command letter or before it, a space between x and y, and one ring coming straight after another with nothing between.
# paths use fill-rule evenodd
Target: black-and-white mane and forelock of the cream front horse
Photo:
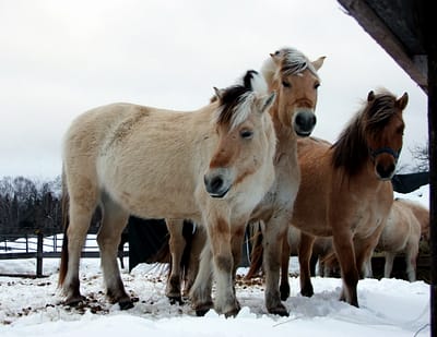
<instances>
[{"instance_id":1,"label":"black-and-white mane and forelock of the cream front horse","mask_svg":"<svg viewBox=\"0 0 437 337\"><path fill-rule=\"evenodd\" d=\"M265 81L255 70L248 70L240 82L218 94L220 106L214 121L217 124L228 124L231 130L248 118L256 93L267 93Z\"/></svg>"}]
</instances>

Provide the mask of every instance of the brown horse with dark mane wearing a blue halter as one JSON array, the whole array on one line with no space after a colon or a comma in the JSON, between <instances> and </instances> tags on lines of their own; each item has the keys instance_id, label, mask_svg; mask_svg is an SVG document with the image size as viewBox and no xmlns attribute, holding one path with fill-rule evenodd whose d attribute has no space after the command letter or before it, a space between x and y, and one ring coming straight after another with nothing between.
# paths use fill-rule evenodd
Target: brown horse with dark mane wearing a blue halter
<instances>
[{"instance_id":1,"label":"brown horse with dark mane wearing a blue halter","mask_svg":"<svg viewBox=\"0 0 437 337\"><path fill-rule=\"evenodd\" d=\"M370 92L364 108L332 146L315 139L299 140L302 180L292 224L303 231L299 264L304 296L314 293L309 257L315 237L332 236L343 279L341 299L358 306L359 273L364 273L393 203L390 179L402 148L406 104L406 93L397 99L385 91ZM288 258L286 241L283 246L283 258ZM281 290L286 298L287 269L283 275Z\"/></svg>"}]
</instances>

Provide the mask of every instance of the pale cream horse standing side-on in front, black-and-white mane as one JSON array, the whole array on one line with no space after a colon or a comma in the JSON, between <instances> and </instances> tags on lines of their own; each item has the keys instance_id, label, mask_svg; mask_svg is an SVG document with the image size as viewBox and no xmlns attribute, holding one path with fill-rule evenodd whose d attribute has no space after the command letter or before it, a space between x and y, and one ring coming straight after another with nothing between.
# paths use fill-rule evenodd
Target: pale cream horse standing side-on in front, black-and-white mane
<instances>
[{"instance_id":1,"label":"pale cream horse standing side-on in front, black-and-white mane","mask_svg":"<svg viewBox=\"0 0 437 337\"><path fill-rule=\"evenodd\" d=\"M274 181L276 137L265 111L276 95L233 85L215 88L215 96L213 103L190 112L113 104L72 122L63 140L69 222L59 286L64 303L83 300L81 249L91 216L101 206L97 243L111 302L121 309L133 306L116 260L120 234L132 214L203 224L214 256L215 310L225 315L239 310L232 277L234 234L243 231Z\"/></svg>"}]
</instances>

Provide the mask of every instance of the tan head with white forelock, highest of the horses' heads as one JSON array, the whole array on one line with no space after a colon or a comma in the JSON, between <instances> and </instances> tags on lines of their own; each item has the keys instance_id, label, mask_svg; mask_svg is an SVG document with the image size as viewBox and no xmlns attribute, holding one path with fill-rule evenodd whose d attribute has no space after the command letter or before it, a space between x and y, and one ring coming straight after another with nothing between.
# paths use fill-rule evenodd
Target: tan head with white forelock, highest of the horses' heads
<instances>
[{"instance_id":1,"label":"tan head with white forelock, highest of the horses' heads","mask_svg":"<svg viewBox=\"0 0 437 337\"><path fill-rule=\"evenodd\" d=\"M293 48L283 48L270 56L262 73L269 88L277 93L272 113L282 124L293 128L297 135L308 136L316 125L317 88L320 85L317 71L324 57L310 62Z\"/></svg>"}]
</instances>

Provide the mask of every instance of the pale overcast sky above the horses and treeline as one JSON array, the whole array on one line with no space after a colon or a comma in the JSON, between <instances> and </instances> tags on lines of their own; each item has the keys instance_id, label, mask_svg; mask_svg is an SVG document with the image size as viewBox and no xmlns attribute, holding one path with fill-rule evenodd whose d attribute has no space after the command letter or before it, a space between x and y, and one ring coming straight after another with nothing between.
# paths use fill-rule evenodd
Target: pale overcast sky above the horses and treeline
<instances>
[{"instance_id":1,"label":"pale overcast sky above the horses and treeline","mask_svg":"<svg viewBox=\"0 0 437 337\"><path fill-rule=\"evenodd\" d=\"M319 74L314 135L335 141L370 89L410 95L401 164L427 141L427 98L334 0L0 0L0 178L54 178L81 112L205 105L290 46Z\"/></svg>"}]
</instances>

